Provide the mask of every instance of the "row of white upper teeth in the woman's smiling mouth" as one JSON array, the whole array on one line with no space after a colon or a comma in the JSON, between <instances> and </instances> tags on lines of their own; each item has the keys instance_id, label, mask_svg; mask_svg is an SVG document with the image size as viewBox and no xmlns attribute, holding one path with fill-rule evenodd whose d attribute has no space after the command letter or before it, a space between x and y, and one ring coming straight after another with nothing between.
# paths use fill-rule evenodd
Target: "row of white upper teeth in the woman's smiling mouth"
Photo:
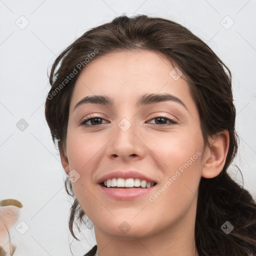
<instances>
[{"instance_id":1,"label":"row of white upper teeth in the woman's smiling mouth","mask_svg":"<svg viewBox=\"0 0 256 256\"><path fill-rule=\"evenodd\" d=\"M154 182L147 182L144 179L139 178L112 178L104 181L104 185L107 187L143 187L148 188L153 186Z\"/></svg>"}]
</instances>

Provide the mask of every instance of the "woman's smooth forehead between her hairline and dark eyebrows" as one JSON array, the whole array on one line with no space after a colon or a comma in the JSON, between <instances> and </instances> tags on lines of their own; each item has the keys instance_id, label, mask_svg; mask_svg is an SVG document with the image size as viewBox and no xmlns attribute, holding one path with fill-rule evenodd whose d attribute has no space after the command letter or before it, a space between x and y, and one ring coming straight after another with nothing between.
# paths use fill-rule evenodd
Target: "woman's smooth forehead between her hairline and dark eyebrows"
<instances>
[{"instance_id":1,"label":"woman's smooth forehead between her hairline and dark eyebrows","mask_svg":"<svg viewBox=\"0 0 256 256\"><path fill-rule=\"evenodd\" d=\"M116 51L98 56L79 74L70 107L82 97L95 94L130 102L145 93L171 93L191 101L187 83L182 76L173 76L175 70L179 69L174 69L162 54L148 50Z\"/></svg>"}]
</instances>

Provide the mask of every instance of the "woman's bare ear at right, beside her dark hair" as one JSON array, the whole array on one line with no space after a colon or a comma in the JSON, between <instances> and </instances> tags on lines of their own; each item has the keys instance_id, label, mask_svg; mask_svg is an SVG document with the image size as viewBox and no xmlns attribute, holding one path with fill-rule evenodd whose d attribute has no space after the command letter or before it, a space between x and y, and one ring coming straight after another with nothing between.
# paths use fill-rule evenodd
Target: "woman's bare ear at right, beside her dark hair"
<instances>
[{"instance_id":1,"label":"woman's bare ear at right, beside her dark hair","mask_svg":"<svg viewBox=\"0 0 256 256\"><path fill-rule=\"evenodd\" d=\"M223 130L213 137L209 137L209 146L205 148L202 177L213 178L217 176L225 164L229 147L228 130Z\"/></svg>"}]
</instances>

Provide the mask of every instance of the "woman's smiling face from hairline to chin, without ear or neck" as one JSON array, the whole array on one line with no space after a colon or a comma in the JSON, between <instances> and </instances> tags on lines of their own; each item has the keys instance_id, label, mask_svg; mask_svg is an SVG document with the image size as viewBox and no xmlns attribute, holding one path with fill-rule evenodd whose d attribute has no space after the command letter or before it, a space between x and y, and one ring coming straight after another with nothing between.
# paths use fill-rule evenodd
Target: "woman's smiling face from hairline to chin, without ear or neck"
<instances>
[{"instance_id":1,"label":"woman's smiling face from hairline to chin, without ear or neck","mask_svg":"<svg viewBox=\"0 0 256 256\"><path fill-rule=\"evenodd\" d=\"M75 196L95 231L146 237L194 221L203 137L180 75L145 50L92 59L80 73L65 153ZM107 179L117 186L104 187ZM142 188L140 180L156 184Z\"/></svg>"}]
</instances>

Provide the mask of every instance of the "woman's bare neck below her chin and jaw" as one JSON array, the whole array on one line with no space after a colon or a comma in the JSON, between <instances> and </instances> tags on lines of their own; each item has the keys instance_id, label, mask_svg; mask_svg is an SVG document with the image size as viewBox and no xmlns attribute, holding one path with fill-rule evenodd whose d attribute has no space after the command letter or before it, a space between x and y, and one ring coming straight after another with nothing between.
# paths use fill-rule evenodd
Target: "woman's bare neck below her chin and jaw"
<instances>
[{"instance_id":1,"label":"woman's bare neck below her chin and jaw","mask_svg":"<svg viewBox=\"0 0 256 256\"><path fill-rule=\"evenodd\" d=\"M99 256L186 255L198 256L194 240L196 202L186 214L148 237L131 234L125 239L109 236L94 226Z\"/></svg>"}]
</instances>

